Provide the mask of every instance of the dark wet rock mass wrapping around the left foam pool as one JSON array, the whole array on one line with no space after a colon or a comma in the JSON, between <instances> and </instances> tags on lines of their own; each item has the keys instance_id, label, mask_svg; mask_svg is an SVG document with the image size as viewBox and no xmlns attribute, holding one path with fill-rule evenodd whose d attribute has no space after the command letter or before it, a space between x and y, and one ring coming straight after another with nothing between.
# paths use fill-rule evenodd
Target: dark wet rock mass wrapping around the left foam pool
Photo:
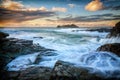
<instances>
[{"instance_id":1,"label":"dark wet rock mass wrapping around the left foam pool","mask_svg":"<svg viewBox=\"0 0 120 80\"><path fill-rule=\"evenodd\" d=\"M41 55L52 55L51 49L46 49L32 40L6 38L8 34L0 33L0 79L2 80L49 80L51 68L31 67L23 71L6 71L6 65L20 55L40 52L34 64L38 64ZM44 53L43 53L44 52Z\"/></svg>"}]
</instances>

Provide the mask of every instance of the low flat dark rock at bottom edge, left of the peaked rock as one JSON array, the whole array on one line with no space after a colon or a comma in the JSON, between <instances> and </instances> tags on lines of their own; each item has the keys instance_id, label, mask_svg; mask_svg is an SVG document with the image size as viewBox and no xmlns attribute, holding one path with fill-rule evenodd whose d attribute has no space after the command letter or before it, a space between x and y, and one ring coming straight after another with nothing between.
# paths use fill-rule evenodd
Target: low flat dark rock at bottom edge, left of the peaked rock
<instances>
[{"instance_id":1,"label":"low flat dark rock at bottom edge, left of the peaked rock","mask_svg":"<svg viewBox=\"0 0 120 80\"><path fill-rule=\"evenodd\" d=\"M51 71L48 67L30 67L21 71L17 80L49 80Z\"/></svg>"}]
</instances>

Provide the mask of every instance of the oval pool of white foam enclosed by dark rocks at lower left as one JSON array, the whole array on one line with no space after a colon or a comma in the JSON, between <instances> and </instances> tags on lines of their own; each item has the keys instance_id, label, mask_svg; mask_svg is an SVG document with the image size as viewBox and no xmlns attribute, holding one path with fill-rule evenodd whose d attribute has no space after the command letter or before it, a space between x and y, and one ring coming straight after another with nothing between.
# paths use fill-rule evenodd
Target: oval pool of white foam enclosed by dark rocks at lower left
<instances>
[{"instance_id":1,"label":"oval pool of white foam enclosed by dark rocks at lower left","mask_svg":"<svg viewBox=\"0 0 120 80\"><path fill-rule=\"evenodd\" d=\"M22 55L7 64L9 71L18 71L32 66L39 53Z\"/></svg>"}]
</instances>

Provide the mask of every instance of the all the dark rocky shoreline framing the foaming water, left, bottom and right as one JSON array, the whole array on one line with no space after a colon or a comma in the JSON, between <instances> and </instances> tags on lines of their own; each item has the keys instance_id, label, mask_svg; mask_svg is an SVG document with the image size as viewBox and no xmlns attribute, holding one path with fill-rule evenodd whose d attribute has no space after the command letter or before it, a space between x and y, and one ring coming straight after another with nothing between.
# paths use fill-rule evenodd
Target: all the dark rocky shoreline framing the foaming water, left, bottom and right
<instances>
[{"instance_id":1,"label":"all the dark rocky shoreline framing the foaming water, left, bottom and right","mask_svg":"<svg viewBox=\"0 0 120 80\"><path fill-rule=\"evenodd\" d=\"M115 31L114 31L115 30ZM109 37L120 35L120 22L111 30ZM57 61L54 68L32 66L20 71L7 71L6 65L20 55L41 53L35 60L40 61L40 56L50 56L51 49L46 49L32 40L7 38L9 34L0 32L0 79L1 80L119 80L117 77L105 77L99 72L91 73L92 68L76 67L72 63ZM120 57L120 43L105 44L97 51L112 52ZM120 74L114 72L113 75Z\"/></svg>"}]
</instances>

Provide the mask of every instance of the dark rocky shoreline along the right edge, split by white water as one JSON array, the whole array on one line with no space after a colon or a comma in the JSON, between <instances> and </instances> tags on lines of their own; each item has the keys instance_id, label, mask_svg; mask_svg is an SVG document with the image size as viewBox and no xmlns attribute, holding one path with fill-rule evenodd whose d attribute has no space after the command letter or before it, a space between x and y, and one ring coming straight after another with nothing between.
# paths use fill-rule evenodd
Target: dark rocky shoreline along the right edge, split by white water
<instances>
[{"instance_id":1,"label":"dark rocky shoreline along the right edge, split by white water","mask_svg":"<svg viewBox=\"0 0 120 80\"><path fill-rule=\"evenodd\" d=\"M106 38L110 39L112 37L120 37L120 22L118 22L115 27L113 27L110 31L110 33L106 36ZM100 46L97 51L108 51L112 52L118 56L120 56L120 43L107 43L102 46Z\"/></svg>"}]
</instances>

